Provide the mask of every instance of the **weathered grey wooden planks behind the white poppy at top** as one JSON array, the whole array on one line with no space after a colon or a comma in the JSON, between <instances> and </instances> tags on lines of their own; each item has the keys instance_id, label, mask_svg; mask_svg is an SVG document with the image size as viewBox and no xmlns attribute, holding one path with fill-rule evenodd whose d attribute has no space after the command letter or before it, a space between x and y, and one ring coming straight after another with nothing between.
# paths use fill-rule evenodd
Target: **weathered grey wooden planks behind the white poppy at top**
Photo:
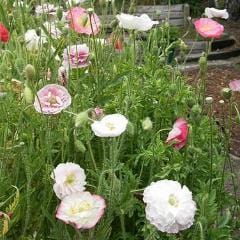
<instances>
[{"instance_id":1,"label":"weathered grey wooden planks behind the white poppy at top","mask_svg":"<svg viewBox=\"0 0 240 240\"><path fill-rule=\"evenodd\" d=\"M168 21L170 25L187 27L188 17L190 16L190 7L188 4L175 4L175 5L138 5L135 7L134 15L140 16L147 14L152 20L157 20L161 24ZM100 16L102 25L110 27L116 17L113 15Z\"/></svg>"}]
</instances>

